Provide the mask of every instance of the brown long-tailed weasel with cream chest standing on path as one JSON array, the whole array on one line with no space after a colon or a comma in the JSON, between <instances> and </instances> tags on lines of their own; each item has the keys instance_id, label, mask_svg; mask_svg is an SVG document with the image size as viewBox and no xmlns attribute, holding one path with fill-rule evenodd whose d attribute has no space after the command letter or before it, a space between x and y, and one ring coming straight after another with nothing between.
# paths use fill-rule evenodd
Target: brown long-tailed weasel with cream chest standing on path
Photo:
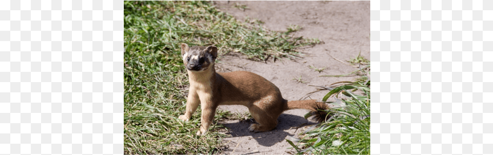
<instances>
[{"instance_id":1,"label":"brown long-tailed weasel with cream chest standing on path","mask_svg":"<svg viewBox=\"0 0 493 155\"><path fill-rule=\"evenodd\" d=\"M189 48L187 44L181 44L181 54L188 72L190 88L186 100L186 112L180 115L179 119L188 121L200 103L202 124L197 135L204 135L207 132L219 105L247 106L258 123L250 125L248 130L255 132L274 129L279 115L289 109L312 110L317 121L323 121L327 116L323 110L329 107L325 103L315 100L288 102L282 98L279 88L255 73L248 71L216 73L215 46Z\"/></svg>"}]
</instances>

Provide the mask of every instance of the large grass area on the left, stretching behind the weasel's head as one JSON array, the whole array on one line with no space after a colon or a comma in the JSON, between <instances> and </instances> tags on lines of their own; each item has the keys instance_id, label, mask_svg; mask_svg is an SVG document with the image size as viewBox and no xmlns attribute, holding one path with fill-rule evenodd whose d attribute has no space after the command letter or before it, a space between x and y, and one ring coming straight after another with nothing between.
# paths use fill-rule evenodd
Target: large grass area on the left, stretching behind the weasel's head
<instances>
[{"instance_id":1,"label":"large grass area on the left, stretching behind the weasel's head","mask_svg":"<svg viewBox=\"0 0 493 155\"><path fill-rule=\"evenodd\" d=\"M291 32L246 24L202 1L124 2L124 153L221 153L223 133L217 122L231 113L218 111L205 136L195 135L200 108L189 122L185 110L189 86L180 57L181 43L215 45L221 55L239 52L251 60L293 58L296 48L319 43Z\"/></svg>"}]
</instances>

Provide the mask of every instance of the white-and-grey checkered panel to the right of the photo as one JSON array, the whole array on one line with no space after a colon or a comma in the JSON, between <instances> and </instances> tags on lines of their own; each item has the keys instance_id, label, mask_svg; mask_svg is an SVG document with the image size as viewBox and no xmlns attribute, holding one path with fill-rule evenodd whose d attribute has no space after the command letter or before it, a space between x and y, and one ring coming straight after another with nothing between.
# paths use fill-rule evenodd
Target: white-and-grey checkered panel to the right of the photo
<instances>
[{"instance_id":1,"label":"white-and-grey checkered panel to the right of the photo","mask_svg":"<svg viewBox=\"0 0 493 155\"><path fill-rule=\"evenodd\" d=\"M371 1L371 152L493 154L493 1Z\"/></svg>"}]
</instances>

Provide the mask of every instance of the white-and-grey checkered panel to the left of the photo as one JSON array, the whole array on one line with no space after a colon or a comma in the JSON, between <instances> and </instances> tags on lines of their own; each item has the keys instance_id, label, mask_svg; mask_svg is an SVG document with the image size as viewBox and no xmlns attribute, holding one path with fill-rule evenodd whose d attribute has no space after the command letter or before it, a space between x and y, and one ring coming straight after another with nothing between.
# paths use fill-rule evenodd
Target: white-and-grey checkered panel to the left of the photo
<instances>
[{"instance_id":1,"label":"white-and-grey checkered panel to the left of the photo","mask_svg":"<svg viewBox=\"0 0 493 155\"><path fill-rule=\"evenodd\" d=\"M0 0L0 154L123 154L123 1Z\"/></svg>"}]
</instances>

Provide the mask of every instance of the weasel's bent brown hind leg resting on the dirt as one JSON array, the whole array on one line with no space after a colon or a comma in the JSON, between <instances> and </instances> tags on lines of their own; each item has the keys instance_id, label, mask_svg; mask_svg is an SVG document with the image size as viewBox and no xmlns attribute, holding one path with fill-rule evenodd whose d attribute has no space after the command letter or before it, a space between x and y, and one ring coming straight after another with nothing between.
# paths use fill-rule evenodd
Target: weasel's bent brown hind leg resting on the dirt
<instances>
[{"instance_id":1,"label":"weasel's bent brown hind leg resting on the dirt","mask_svg":"<svg viewBox=\"0 0 493 155\"><path fill-rule=\"evenodd\" d=\"M248 127L251 132L270 131L277 126L277 117L253 105L249 108L252 117L258 124L252 124ZM277 115L278 116L278 115Z\"/></svg>"}]
</instances>

